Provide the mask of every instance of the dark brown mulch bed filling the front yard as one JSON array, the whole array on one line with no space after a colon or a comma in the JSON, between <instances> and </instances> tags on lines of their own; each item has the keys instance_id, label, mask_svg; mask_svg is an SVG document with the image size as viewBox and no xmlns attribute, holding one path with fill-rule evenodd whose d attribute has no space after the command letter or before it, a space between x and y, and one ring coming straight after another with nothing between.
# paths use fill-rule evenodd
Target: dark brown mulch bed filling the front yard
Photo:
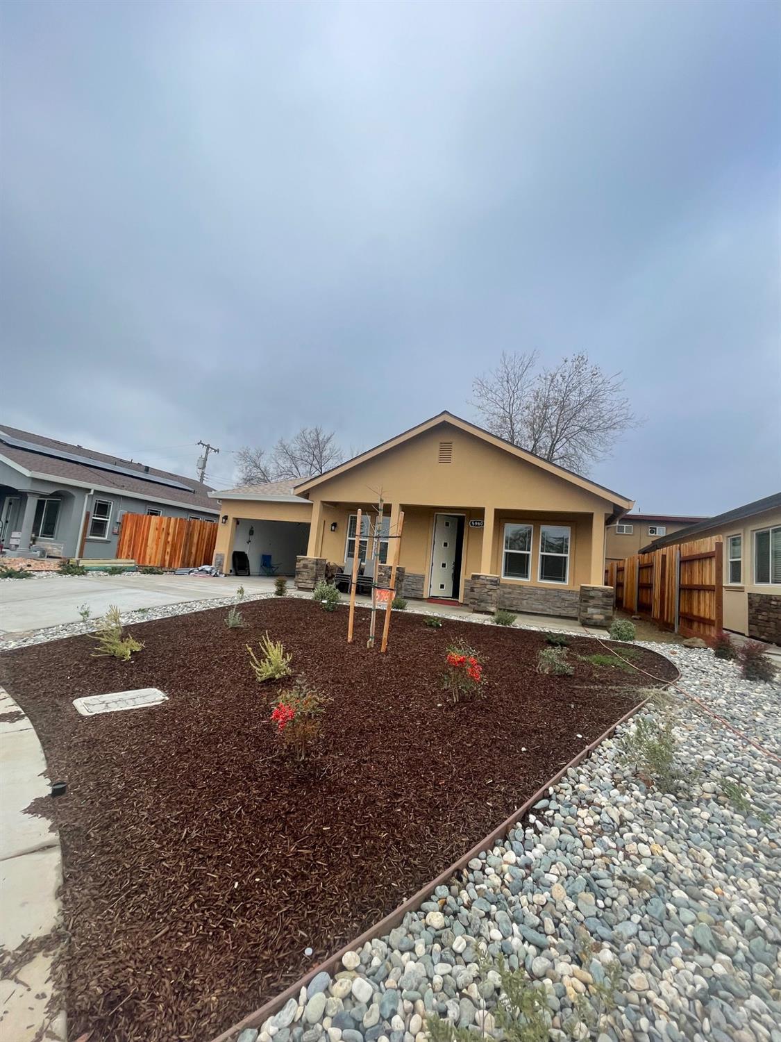
<instances>
[{"instance_id":1,"label":"dark brown mulch bed filling the front yard","mask_svg":"<svg viewBox=\"0 0 781 1042\"><path fill-rule=\"evenodd\" d=\"M303 600L127 627L129 663L85 637L10 651L0 680L32 721L62 843L67 1007L93 1042L209 1039L355 937L479 842L638 701L648 679L577 660L535 671L543 635L396 614L386 655L369 614ZM318 752L282 755L269 724L283 686L259 686L245 644L268 629L328 694ZM485 660L486 697L453 704L445 649ZM633 660L676 670L651 651ZM158 687L152 709L81 717L80 695ZM579 737L582 736L582 737ZM522 752L526 747L527 752ZM313 948L306 958L304 949Z\"/></svg>"}]
</instances>

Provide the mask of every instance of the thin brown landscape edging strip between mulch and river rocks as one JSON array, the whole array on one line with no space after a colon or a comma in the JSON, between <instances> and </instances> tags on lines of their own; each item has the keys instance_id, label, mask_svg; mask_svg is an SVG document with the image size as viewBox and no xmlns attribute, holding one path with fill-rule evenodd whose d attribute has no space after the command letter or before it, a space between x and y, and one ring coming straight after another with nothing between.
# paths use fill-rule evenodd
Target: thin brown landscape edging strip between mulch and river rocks
<instances>
[{"instance_id":1,"label":"thin brown landscape edging strip between mulch and river rocks","mask_svg":"<svg viewBox=\"0 0 781 1042\"><path fill-rule=\"evenodd\" d=\"M655 653L658 654L659 652ZM661 655L661 658L666 659L666 655ZM667 659L667 662L671 662L671 660ZM680 679L681 671L675 663L671 662L671 665L674 666L677 675L662 684L659 690L663 690L671 684ZM334 970L341 964L342 957L348 951L354 951L357 948L362 948L367 941L371 941L375 937L384 937L386 934L389 934L392 929L401 924L407 912L413 912L420 904L423 903L423 901L427 899L427 897L431 895L436 887L447 883L452 875L464 869L473 858L476 858L488 847L494 846L498 840L506 836L509 830L513 828L529 813L529 811L532 810L535 803L538 803L540 799L545 798L549 789L553 788L553 786L560 782L564 774L572 770L573 767L577 767L578 764L582 763L586 759L586 756L589 756L599 745L610 738L618 727L620 727L623 723L626 723L627 720L633 717L636 713L639 713L648 701L648 698L644 698L641 702L638 702L633 709L629 710L628 713L625 713L621 719L615 721L615 723L610 724L607 730L600 735L599 738L595 739L590 745L586 745L585 748L581 749L569 764L562 767L560 771L554 774L553 777L549 778L544 786L537 789L534 795L527 799L522 807L520 807L517 811L513 811L512 814L508 818L505 818L500 825L493 828L487 836L483 837L483 839L476 843L475 846L467 851L467 853L462 854L457 861L453 862L452 865L435 876L435 878L431 879L424 887L421 887L421 889L418 890L417 893L412 894L411 897L408 897L402 904L395 908L393 912L388 912L386 916L374 923L374 925L364 929L363 933L359 934L354 940L349 941L337 951L334 951L333 954L328 956L328 958L324 959L318 966L312 966L311 969L302 974L298 981L285 988L285 990L280 992L279 995L276 995L274 998L270 998L257 1010L249 1013L243 1020L240 1020L231 1027L228 1027L227 1031L222 1033L222 1035L218 1035L216 1038L211 1039L211 1042L232 1042L232 1040L246 1027L259 1028L269 1017L278 1013L285 1002L289 1001L291 998L297 998L301 988L305 987L318 973L325 970L327 973L332 975Z\"/></svg>"}]
</instances>

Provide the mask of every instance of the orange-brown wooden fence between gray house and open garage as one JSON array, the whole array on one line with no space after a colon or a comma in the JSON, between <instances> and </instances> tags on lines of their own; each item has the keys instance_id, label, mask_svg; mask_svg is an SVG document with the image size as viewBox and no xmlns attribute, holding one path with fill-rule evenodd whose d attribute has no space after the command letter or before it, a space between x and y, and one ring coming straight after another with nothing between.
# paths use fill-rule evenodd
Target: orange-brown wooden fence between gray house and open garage
<instances>
[{"instance_id":1,"label":"orange-brown wooden fence between gray house and open garage","mask_svg":"<svg viewBox=\"0 0 781 1042\"><path fill-rule=\"evenodd\" d=\"M157 568L198 568L211 564L216 542L215 521L125 514L117 556Z\"/></svg>"}]
</instances>

